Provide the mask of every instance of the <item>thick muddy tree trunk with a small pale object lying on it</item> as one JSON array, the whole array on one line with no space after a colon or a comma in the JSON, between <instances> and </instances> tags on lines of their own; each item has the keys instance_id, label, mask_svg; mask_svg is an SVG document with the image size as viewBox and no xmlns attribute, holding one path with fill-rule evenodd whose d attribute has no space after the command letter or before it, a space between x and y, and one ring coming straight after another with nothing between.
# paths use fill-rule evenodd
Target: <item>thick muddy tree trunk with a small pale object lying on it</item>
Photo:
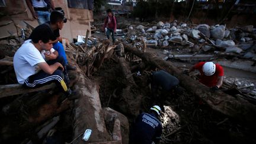
<instances>
[{"instance_id":1,"label":"thick muddy tree trunk with a small pale object lying on it","mask_svg":"<svg viewBox=\"0 0 256 144\"><path fill-rule=\"evenodd\" d=\"M80 97L75 100L73 137L78 137L86 129L91 129L92 133L88 142L111 141L112 139L105 127L98 85L86 78L78 66L76 76L79 79L74 88ZM73 143L84 143L84 141L79 138Z\"/></svg>"}]
</instances>

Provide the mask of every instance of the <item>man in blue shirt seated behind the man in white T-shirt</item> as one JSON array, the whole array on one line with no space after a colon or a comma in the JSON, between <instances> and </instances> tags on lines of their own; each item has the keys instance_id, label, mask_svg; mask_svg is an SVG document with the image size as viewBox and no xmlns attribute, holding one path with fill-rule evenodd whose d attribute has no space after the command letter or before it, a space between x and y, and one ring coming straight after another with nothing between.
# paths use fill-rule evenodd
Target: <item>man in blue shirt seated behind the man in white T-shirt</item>
<instances>
[{"instance_id":1,"label":"man in blue shirt seated behind the man in white T-shirt","mask_svg":"<svg viewBox=\"0 0 256 144\"><path fill-rule=\"evenodd\" d=\"M59 42L59 40L62 40L59 34L59 30L62 30L64 23L66 23L66 18L64 17L64 12L61 8L56 8L56 11L53 11L50 14L50 21L43 24L43 25L47 25L48 27L50 27L53 31L53 33L55 34L56 40L53 41L53 49L55 49L58 53L59 56L63 57L64 62L65 62L65 66L66 69L72 69L75 70L76 67L75 66L71 66L68 63L68 60L66 58L66 53L64 50L64 47L62 45L62 43ZM28 38L30 39L30 38Z\"/></svg>"}]
</instances>

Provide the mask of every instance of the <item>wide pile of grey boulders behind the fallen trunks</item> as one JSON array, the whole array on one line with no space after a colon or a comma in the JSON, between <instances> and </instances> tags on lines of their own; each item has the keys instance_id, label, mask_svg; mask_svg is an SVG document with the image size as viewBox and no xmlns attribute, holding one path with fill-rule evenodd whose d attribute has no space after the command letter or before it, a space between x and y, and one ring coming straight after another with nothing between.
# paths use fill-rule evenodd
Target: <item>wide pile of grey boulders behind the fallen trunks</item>
<instances>
[{"instance_id":1,"label":"wide pile of grey boulders behind the fallen trunks","mask_svg":"<svg viewBox=\"0 0 256 144\"><path fill-rule=\"evenodd\" d=\"M146 27L129 26L127 31L128 43L143 40L147 46L183 46L178 49L183 53L199 54L215 51L216 54L224 52L225 55L256 60L256 28L253 25L229 29L219 24L210 26L159 21L156 25ZM169 55L169 58L173 56Z\"/></svg>"}]
</instances>

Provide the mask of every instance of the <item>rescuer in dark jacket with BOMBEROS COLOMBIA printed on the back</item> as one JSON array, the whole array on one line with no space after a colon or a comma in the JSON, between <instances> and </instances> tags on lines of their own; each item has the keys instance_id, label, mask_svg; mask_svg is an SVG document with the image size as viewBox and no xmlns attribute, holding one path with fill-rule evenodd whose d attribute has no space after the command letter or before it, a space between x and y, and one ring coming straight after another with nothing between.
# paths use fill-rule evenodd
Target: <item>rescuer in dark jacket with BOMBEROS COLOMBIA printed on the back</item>
<instances>
[{"instance_id":1,"label":"rescuer in dark jacket with BOMBEROS COLOMBIA printed on the back","mask_svg":"<svg viewBox=\"0 0 256 144\"><path fill-rule=\"evenodd\" d=\"M149 114L139 114L130 133L130 143L158 143L162 135L162 124L158 120L160 114L161 108L158 105L151 107Z\"/></svg>"}]
</instances>

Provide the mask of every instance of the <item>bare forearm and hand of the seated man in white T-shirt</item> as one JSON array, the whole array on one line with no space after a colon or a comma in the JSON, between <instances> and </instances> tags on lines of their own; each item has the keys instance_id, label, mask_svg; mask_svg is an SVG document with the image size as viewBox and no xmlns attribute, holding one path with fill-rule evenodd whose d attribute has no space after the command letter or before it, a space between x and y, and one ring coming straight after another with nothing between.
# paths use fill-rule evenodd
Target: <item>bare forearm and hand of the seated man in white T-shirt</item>
<instances>
[{"instance_id":1,"label":"bare forearm and hand of the seated man in white T-shirt","mask_svg":"<svg viewBox=\"0 0 256 144\"><path fill-rule=\"evenodd\" d=\"M64 70L62 64L59 62L56 62L53 65L48 65L46 62L41 62L37 64L41 70L48 73L49 75L52 75L53 72L55 72L59 67L62 68L62 71Z\"/></svg>"}]
</instances>

